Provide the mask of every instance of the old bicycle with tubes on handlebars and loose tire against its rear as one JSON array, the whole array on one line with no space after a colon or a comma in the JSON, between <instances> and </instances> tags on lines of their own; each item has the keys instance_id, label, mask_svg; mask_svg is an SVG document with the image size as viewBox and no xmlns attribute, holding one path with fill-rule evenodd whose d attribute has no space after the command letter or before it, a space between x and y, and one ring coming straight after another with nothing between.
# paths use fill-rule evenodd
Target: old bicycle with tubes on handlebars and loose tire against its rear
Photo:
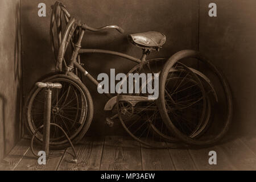
<instances>
[{"instance_id":1,"label":"old bicycle with tubes on handlebars and loose tire against its rear","mask_svg":"<svg viewBox=\"0 0 256 182\"><path fill-rule=\"evenodd\" d=\"M50 38L55 55L56 72L50 73L45 76L46 78L40 80L62 85L61 89L52 91L52 123L61 126L73 143L77 143L84 137L92 122L93 101L81 80L85 76L97 87L99 83L84 68L81 63L81 55L105 53L137 63L129 73L160 74L159 98L149 100L150 94L142 92L150 81L154 82L158 79L156 77L142 82L137 92L118 93L117 96L105 94L109 97L109 101L104 110L114 113L113 117L106 118L106 123L109 126L112 126L114 119L118 118L131 137L145 146L156 148L168 147L169 142L176 141L194 145L213 144L223 137L230 126L232 98L228 83L219 69L201 56L199 52L191 50L178 52L170 59L147 60L147 56L152 51L158 51L166 42L166 36L159 32L150 31L128 35L130 42L142 49L141 59L120 52L81 47L85 31L99 32L110 29L115 29L120 33L124 32L121 27L116 25L102 28L89 27L87 24L81 23L80 19L72 17L63 3L56 2L52 6ZM72 53L68 56L69 48ZM183 62L186 58L189 60ZM191 61L191 58L196 60ZM200 65L198 59L201 60ZM199 66L209 69L204 72L206 69L199 70ZM212 76L216 73L217 76ZM129 82L128 79L123 81ZM136 83L133 80L128 84ZM122 89L123 84L119 86L119 89ZM219 97L225 103L219 102ZM205 139L202 136L205 136L205 133L212 128L210 126L213 123L217 123L216 119L213 119L216 115L214 112L216 105L226 111L222 113L225 118L221 122L223 127L218 128L216 134L207 135L207 139ZM27 129L32 135L43 124L43 108L43 89L34 86L28 95L24 110ZM39 131L35 135L35 139L39 143L42 143L42 132ZM60 129L52 127L50 147L59 149L68 146L69 142Z\"/></svg>"}]
</instances>

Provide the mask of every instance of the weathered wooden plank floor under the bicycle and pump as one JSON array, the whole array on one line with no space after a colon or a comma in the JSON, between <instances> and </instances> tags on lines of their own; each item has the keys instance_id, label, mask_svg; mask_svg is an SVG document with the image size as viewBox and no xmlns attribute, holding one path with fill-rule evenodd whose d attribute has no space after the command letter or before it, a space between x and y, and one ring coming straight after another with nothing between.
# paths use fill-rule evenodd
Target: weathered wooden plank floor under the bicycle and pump
<instances>
[{"instance_id":1,"label":"weathered wooden plank floor under the bicycle and pump","mask_svg":"<svg viewBox=\"0 0 256 182\"><path fill-rule=\"evenodd\" d=\"M164 145L164 143L162 143ZM256 137L242 137L203 149L150 149L130 137L85 138L75 146L78 163L70 163L72 149L51 151L46 165L32 155L30 140L22 139L0 163L0 170L256 170ZM39 148L35 147L38 151ZM210 165L216 151L217 165Z\"/></svg>"}]
</instances>

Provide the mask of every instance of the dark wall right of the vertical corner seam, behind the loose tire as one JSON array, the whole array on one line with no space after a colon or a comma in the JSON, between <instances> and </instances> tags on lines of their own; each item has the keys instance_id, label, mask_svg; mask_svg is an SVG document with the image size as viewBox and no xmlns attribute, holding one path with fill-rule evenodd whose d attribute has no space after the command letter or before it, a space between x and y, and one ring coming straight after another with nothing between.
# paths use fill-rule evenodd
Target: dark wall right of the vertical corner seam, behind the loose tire
<instances>
[{"instance_id":1,"label":"dark wall right of the vertical corner seam, behind the loose tire","mask_svg":"<svg viewBox=\"0 0 256 182\"><path fill-rule=\"evenodd\" d=\"M208 5L217 5L217 17ZM256 1L200 0L199 49L225 73L232 89L234 134L256 131Z\"/></svg>"}]
</instances>

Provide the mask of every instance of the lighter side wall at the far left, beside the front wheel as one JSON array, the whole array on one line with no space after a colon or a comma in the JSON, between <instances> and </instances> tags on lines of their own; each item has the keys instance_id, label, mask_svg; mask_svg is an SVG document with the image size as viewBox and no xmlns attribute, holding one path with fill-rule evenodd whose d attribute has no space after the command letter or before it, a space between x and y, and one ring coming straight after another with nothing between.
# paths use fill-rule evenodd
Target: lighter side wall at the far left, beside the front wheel
<instances>
[{"instance_id":1,"label":"lighter side wall at the far left, beside the front wheel","mask_svg":"<svg viewBox=\"0 0 256 182\"><path fill-rule=\"evenodd\" d=\"M0 1L0 160L21 137L20 1Z\"/></svg>"}]
</instances>

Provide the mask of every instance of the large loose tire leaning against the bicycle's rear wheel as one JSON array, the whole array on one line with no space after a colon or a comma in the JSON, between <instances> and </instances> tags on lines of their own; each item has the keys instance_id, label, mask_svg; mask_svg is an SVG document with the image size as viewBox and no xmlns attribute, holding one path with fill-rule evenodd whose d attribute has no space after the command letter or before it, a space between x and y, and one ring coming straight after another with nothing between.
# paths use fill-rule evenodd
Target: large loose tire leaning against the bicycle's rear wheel
<instances>
[{"instance_id":1,"label":"large loose tire leaning against the bicycle's rear wheel","mask_svg":"<svg viewBox=\"0 0 256 182\"><path fill-rule=\"evenodd\" d=\"M222 127L221 131L218 132L216 135L214 135L214 137L211 139L199 140L197 138L193 139L188 137L187 135L184 135L183 133L181 133L179 129L177 129L177 127L174 125L174 123L172 123L171 119L168 117L168 113L167 113L166 105L164 101L164 87L166 83L166 78L168 76L169 70L173 67L173 65L177 63L177 61L184 59L186 57L193 57L207 64L208 67L213 71L213 73L217 75L224 89L224 93L226 96L226 105L227 105L226 119L225 119L225 122L223 123L224 126ZM230 127L230 123L232 121L233 104L232 104L232 94L229 88L228 81L226 80L225 76L220 71L220 69L218 69L214 64L212 64L209 61L209 59L207 59L204 55L202 55L198 51L183 50L175 53L175 55L171 56L170 59L168 59L168 61L166 62L166 64L162 69L162 72L160 73L159 105L160 107L162 107L162 109L160 109L160 114L163 118L163 121L166 123L166 126L168 127L168 129L170 129L174 133L175 137L180 139L182 142L190 145L208 146L208 145L217 143L227 133Z\"/></svg>"}]
</instances>

